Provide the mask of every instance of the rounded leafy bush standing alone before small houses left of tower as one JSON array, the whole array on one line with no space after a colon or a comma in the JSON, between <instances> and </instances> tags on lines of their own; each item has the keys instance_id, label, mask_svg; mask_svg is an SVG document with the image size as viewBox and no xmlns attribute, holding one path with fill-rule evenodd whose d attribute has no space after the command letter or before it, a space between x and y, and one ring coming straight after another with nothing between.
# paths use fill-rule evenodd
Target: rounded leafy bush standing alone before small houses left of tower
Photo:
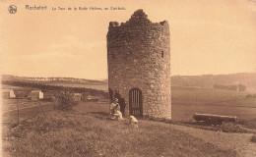
<instances>
[{"instance_id":1,"label":"rounded leafy bush standing alone before small houses left of tower","mask_svg":"<svg viewBox=\"0 0 256 157\"><path fill-rule=\"evenodd\" d=\"M71 93L68 90L62 90L56 97L54 107L60 111L70 111L76 105L78 105L78 103L74 101Z\"/></svg>"}]
</instances>

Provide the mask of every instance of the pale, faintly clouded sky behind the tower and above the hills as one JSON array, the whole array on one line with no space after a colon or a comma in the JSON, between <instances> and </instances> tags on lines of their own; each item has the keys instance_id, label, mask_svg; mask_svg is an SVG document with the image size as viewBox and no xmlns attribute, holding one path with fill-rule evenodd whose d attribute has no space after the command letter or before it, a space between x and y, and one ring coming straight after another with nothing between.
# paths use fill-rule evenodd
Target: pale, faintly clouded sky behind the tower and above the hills
<instances>
[{"instance_id":1,"label":"pale, faintly clouded sky behind the tower and above the hills","mask_svg":"<svg viewBox=\"0 0 256 157\"><path fill-rule=\"evenodd\" d=\"M168 21L171 75L256 73L255 0L1 0L1 74L20 77L107 78L109 22L125 23L143 9ZM15 5L16 14L8 7ZM26 5L47 10L26 10ZM52 11L102 7L108 11ZM110 10L124 7L126 10Z\"/></svg>"}]
</instances>

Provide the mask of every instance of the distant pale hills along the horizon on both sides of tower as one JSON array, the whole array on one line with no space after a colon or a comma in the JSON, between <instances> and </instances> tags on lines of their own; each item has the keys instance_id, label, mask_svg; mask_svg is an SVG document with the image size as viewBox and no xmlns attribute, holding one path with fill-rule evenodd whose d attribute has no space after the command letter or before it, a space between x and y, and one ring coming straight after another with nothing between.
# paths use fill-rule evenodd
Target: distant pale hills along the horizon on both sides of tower
<instances>
[{"instance_id":1,"label":"distant pale hills along the horizon on both sides of tower","mask_svg":"<svg viewBox=\"0 0 256 157\"><path fill-rule=\"evenodd\" d=\"M107 91L107 79L92 80L86 78L28 78L2 75L2 81L25 81L58 86L86 87ZM244 84L249 92L256 92L256 73L238 73L230 75L173 76L172 86L197 86L213 88L215 84Z\"/></svg>"}]
</instances>

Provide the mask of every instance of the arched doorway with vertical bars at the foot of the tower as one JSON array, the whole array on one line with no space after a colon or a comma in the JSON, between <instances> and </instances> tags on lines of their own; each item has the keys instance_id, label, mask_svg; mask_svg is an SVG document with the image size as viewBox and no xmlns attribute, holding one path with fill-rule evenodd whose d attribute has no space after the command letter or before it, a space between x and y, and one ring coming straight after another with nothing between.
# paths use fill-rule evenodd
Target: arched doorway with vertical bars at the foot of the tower
<instances>
[{"instance_id":1,"label":"arched doorway with vertical bars at the foot of the tower","mask_svg":"<svg viewBox=\"0 0 256 157\"><path fill-rule=\"evenodd\" d=\"M129 91L129 112L135 117L143 117L142 91L139 88Z\"/></svg>"}]
</instances>

